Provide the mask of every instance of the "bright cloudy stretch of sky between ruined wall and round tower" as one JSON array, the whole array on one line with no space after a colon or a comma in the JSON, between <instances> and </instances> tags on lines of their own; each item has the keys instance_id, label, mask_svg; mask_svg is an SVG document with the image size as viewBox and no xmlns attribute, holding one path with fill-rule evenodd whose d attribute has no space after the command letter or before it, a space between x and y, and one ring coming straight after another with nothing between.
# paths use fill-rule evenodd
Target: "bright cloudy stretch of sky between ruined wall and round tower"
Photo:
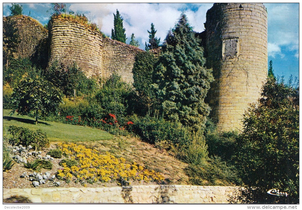
<instances>
[{"instance_id":1,"label":"bright cloudy stretch of sky between ruined wall and round tower","mask_svg":"<svg viewBox=\"0 0 302 210\"><path fill-rule=\"evenodd\" d=\"M206 12L213 4L147 4L147 3L94 3L94 4L71 4L70 9L84 13L88 18L96 22L102 32L111 36L113 28L113 14L116 10L124 19L123 25L126 29L127 43L131 34L134 33L140 41L140 47L144 48L148 43L148 32L151 23L157 30L156 37L164 41L168 31L175 26L182 11L188 16L189 23L195 31L204 30ZM193 9L194 8L194 11Z\"/></svg>"}]
</instances>

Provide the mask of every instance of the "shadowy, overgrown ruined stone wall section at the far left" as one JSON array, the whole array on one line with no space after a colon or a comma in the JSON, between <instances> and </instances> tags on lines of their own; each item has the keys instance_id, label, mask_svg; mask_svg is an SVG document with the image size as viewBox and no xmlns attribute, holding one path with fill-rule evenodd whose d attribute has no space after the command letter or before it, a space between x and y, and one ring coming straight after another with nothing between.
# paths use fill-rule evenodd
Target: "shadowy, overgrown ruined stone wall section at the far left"
<instances>
[{"instance_id":1,"label":"shadowy, overgrown ruined stone wall section at the far left","mask_svg":"<svg viewBox=\"0 0 302 210\"><path fill-rule=\"evenodd\" d=\"M3 17L3 49L7 50L8 37L16 36L14 58L30 58L38 66L46 67L48 61L48 32L35 19L24 16Z\"/></svg>"}]
</instances>

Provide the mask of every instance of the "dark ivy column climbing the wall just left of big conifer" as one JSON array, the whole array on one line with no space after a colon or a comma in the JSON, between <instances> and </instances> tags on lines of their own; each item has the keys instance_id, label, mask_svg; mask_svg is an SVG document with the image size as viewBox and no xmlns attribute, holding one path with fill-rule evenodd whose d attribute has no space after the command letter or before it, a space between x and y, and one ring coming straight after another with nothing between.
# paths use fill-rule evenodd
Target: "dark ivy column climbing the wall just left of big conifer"
<instances>
[{"instance_id":1,"label":"dark ivy column climbing the wall just left of big conifer","mask_svg":"<svg viewBox=\"0 0 302 210\"><path fill-rule=\"evenodd\" d=\"M133 65L133 87L139 94L140 113L146 115L156 103L155 92L152 88L154 65L158 58L152 52L139 52ZM146 108L145 108L146 107Z\"/></svg>"}]
</instances>

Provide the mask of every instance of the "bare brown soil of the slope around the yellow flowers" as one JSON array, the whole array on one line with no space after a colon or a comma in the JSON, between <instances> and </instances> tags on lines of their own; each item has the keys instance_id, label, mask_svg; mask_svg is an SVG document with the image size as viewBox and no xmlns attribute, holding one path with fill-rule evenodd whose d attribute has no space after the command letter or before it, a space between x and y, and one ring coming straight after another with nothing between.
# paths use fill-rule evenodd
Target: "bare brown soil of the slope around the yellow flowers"
<instances>
[{"instance_id":1,"label":"bare brown soil of the slope around the yellow flowers","mask_svg":"<svg viewBox=\"0 0 302 210\"><path fill-rule=\"evenodd\" d=\"M46 153L50 149L56 148L56 144L58 142L51 142L50 147L42 150L42 157L46 155ZM130 137L115 137L113 140L105 140L98 142L79 142L78 144L83 144L87 148L95 148L100 152L109 151L115 157L123 157L128 162L133 163L137 162L149 170L155 170L161 173L165 180L162 183L149 182L146 183L144 181L133 181L130 180L130 185L150 185L150 184L189 184L188 176L185 174L184 169L188 166L176 158L174 158L167 151L162 151L157 148L154 148L153 145L150 145L145 142L141 142L137 138ZM52 161L53 169L41 169L39 171L40 174L45 174L45 172L50 172L51 175L54 175L59 168L59 162L62 159L54 158ZM21 174L26 172L27 175L32 173L33 171L23 167L23 164L15 163L14 166L3 172L3 188L32 188L31 181L28 178L21 178ZM60 181L59 187L83 187L80 183L65 183L65 181ZM108 182L108 183L87 183L87 187L111 187L111 186L119 186L117 182ZM47 184L41 184L38 188L46 188L46 187L54 187Z\"/></svg>"}]
</instances>

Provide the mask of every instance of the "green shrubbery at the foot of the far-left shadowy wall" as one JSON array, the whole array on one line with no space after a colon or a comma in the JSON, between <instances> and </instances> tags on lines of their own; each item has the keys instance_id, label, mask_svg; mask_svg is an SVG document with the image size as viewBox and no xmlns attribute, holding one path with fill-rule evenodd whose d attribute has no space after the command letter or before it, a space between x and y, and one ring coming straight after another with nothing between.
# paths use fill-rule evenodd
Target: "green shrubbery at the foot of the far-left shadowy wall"
<instances>
[{"instance_id":1,"label":"green shrubbery at the foot of the far-left shadowy wall","mask_svg":"<svg viewBox=\"0 0 302 210\"><path fill-rule=\"evenodd\" d=\"M8 68L3 67L3 82L11 87L16 87L24 77L33 78L37 75L40 75L40 70L28 58L11 59Z\"/></svg>"}]
</instances>

